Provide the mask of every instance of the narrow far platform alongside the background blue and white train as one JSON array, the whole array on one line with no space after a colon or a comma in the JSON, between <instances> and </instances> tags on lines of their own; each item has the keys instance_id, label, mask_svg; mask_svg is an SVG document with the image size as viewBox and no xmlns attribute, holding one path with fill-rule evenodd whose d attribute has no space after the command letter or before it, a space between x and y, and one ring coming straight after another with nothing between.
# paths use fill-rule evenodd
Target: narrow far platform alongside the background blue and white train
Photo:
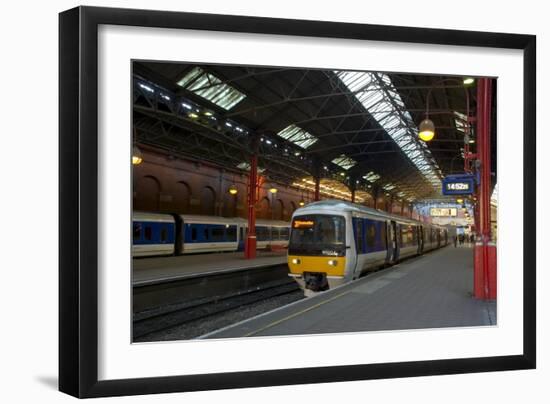
<instances>
[{"instance_id":1,"label":"narrow far platform alongside the background blue and white train","mask_svg":"<svg viewBox=\"0 0 550 404\"><path fill-rule=\"evenodd\" d=\"M132 260L132 285L167 282L210 273L262 268L286 263L286 251L258 251L247 260L243 252L181 255L177 257L137 258Z\"/></svg>"}]
</instances>

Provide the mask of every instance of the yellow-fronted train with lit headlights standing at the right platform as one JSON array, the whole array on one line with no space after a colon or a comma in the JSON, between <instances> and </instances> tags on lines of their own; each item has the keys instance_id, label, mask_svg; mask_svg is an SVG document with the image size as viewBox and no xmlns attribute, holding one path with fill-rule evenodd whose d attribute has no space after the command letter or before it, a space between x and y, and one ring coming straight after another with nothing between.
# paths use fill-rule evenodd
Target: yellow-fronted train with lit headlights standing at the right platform
<instances>
[{"instance_id":1,"label":"yellow-fronted train with lit headlights standing at the right platform","mask_svg":"<svg viewBox=\"0 0 550 404\"><path fill-rule=\"evenodd\" d=\"M335 288L404 258L448 245L452 228L422 223L340 200L292 214L289 276L306 295Z\"/></svg>"}]
</instances>

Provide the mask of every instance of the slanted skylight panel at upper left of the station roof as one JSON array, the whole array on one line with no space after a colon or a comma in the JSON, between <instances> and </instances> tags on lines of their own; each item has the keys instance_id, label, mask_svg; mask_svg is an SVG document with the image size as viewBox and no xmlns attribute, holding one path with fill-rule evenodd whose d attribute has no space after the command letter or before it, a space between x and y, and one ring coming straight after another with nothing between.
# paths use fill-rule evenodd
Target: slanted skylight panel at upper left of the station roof
<instances>
[{"instance_id":1,"label":"slanted skylight panel at upper left of the station roof","mask_svg":"<svg viewBox=\"0 0 550 404\"><path fill-rule=\"evenodd\" d=\"M194 67L177 84L225 110L230 110L246 98L245 94L200 67Z\"/></svg>"}]
</instances>

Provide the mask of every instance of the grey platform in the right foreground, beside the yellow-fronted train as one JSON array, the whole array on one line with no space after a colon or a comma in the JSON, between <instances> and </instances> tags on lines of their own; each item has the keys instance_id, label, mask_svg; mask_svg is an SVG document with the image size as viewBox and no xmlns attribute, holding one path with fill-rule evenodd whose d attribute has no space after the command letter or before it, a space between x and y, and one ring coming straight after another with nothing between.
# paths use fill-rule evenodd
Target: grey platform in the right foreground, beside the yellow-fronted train
<instances>
[{"instance_id":1,"label":"grey platform in the right foreground, beside the yellow-fronted train","mask_svg":"<svg viewBox=\"0 0 550 404\"><path fill-rule=\"evenodd\" d=\"M449 246L201 338L495 325L472 282L472 249Z\"/></svg>"}]
</instances>

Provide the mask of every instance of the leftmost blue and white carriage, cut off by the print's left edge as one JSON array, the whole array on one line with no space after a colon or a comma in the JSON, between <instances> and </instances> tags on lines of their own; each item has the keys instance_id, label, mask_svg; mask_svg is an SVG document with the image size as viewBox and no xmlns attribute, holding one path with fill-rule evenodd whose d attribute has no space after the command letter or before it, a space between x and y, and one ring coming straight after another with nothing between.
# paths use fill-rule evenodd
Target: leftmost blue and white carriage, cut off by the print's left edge
<instances>
[{"instance_id":1,"label":"leftmost blue and white carriage, cut off by the print's left edge","mask_svg":"<svg viewBox=\"0 0 550 404\"><path fill-rule=\"evenodd\" d=\"M172 215L134 212L132 255L172 255L175 248L176 220Z\"/></svg>"}]
</instances>

